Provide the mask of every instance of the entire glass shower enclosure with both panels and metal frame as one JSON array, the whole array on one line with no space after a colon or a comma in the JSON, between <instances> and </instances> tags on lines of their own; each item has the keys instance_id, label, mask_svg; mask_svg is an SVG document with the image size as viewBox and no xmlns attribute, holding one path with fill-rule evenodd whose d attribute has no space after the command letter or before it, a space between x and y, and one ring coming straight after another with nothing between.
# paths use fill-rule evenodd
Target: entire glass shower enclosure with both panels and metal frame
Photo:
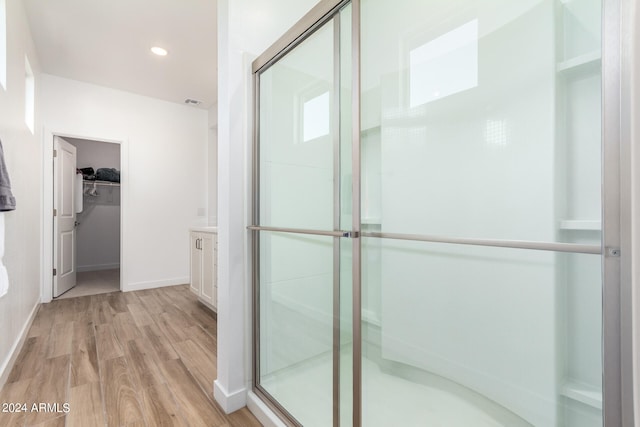
<instances>
[{"instance_id":1,"label":"entire glass shower enclosure with both panels and metal frame","mask_svg":"<svg viewBox=\"0 0 640 427\"><path fill-rule=\"evenodd\" d=\"M287 423L617 425L602 3L326 0L254 62L254 390Z\"/></svg>"}]
</instances>

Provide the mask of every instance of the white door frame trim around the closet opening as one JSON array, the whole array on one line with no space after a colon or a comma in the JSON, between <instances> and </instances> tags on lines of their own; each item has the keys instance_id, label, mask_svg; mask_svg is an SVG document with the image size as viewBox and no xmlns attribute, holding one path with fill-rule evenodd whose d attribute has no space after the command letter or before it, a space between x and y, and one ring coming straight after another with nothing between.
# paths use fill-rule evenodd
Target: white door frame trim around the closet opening
<instances>
[{"instance_id":1,"label":"white door frame trim around the closet opening","mask_svg":"<svg viewBox=\"0 0 640 427\"><path fill-rule=\"evenodd\" d=\"M120 191L120 290L126 288L127 265L125 256L125 238L127 236L127 209L129 186L129 140L126 137L105 138L94 135L79 135L69 132L53 131L44 128L42 132L42 226L41 226L41 254L42 287L40 301L49 303L53 299L53 139L61 138L88 139L97 142L106 142L120 145L120 179L124 185Z\"/></svg>"}]
</instances>

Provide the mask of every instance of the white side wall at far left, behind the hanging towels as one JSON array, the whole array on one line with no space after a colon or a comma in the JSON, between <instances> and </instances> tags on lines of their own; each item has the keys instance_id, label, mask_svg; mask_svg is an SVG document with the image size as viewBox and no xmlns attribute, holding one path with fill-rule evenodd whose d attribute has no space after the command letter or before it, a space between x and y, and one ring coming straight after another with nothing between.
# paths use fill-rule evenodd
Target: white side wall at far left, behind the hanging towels
<instances>
[{"instance_id":1,"label":"white side wall at far left, behind the hanging towels","mask_svg":"<svg viewBox=\"0 0 640 427\"><path fill-rule=\"evenodd\" d=\"M15 211L0 213L4 221L4 265L9 291L0 298L0 386L14 351L26 332L40 298L40 215L42 172L41 114L36 108L36 134L25 124L25 54L36 80L36 107L40 99L40 66L20 0L7 0L7 87L0 87L0 140L10 174ZM0 227L1 230L1 227Z\"/></svg>"}]
</instances>

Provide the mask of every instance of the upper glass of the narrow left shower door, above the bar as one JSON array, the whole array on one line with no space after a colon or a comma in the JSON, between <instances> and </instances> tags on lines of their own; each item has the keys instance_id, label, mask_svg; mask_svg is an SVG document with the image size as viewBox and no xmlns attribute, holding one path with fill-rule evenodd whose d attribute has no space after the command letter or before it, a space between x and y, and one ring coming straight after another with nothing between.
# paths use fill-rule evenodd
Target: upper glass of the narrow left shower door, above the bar
<instances>
[{"instance_id":1,"label":"upper glass of the narrow left shower door, above the bar","mask_svg":"<svg viewBox=\"0 0 640 427\"><path fill-rule=\"evenodd\" d=\"M260 225L333 229L334 24L260 75Z\"/></svg>"}]
</instances>

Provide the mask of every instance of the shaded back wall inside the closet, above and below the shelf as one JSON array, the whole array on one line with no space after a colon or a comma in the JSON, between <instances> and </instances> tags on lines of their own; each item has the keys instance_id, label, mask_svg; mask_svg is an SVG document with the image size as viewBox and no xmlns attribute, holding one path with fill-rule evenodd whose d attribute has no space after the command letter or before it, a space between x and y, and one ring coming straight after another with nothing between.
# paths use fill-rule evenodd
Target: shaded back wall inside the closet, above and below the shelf
<instances>
[{"instance_id":1,"label":"shaded back wall inside the closet, above and below the shelf","mask_svg":"<svg viewBox=\"0 0 640 427\"><path fill-rule=\"evenodd\" d=\"M114 168L120 170L120 144L64 138L77 150L78 168ZM77 271L107 270L120 267L120 195L119 186L96 186L96 196L87 194L91 184L83 186L83 209L76 220Z\"/></svg>"}]
</instances>

